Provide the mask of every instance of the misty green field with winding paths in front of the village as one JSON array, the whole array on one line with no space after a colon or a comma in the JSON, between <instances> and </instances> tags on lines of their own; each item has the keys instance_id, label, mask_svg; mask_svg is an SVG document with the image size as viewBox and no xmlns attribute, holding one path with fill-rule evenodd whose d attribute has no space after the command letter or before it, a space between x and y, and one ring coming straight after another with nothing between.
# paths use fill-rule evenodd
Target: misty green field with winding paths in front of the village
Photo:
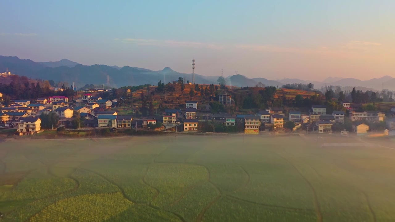
<instances>
[{"instance_id":1,"label":"misty green field with winding paths in front of the village","mask_svg":"<svg viewBox=\"0 0 395 222\"><path fill-rule=\"evenodd\" d=\"M394 143L352 145L363 142L253 135L5 141L0 220L394 221Z\"/></svg>"}]
</instances>

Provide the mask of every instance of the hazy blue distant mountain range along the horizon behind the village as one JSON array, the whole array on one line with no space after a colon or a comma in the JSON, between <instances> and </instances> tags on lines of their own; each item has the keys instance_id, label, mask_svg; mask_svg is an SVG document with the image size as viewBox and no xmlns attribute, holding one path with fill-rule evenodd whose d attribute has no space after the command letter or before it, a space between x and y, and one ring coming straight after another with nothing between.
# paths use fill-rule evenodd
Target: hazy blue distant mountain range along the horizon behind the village
<instances>
[{"instance_id":1,"label":"hazy blue distant mountain range along the horizon behind the village","mask_svg":"<svg viewBox=\"0 0 395 222\"><path fill-rule=\"evenodd\" d=\"M86 84L109 85L111 87L122 87L128 85L157 85L158 81L172 82L179 77L184 78L185 82L192 82L192 73L179 73L169 67L159 71L152 71L138 67L118 67L107 65L85 66L78 62L68 59L62 59L57 62L34 62L30 59L19 59L16 56L0 56L0 72L8 68L13 74L24 75L31 79L47 79L53 81L62 81L72 83L77 86ZM109 83L107 83L107 77ZM195 83L199 84L216 84L219 76L204 76L195 74ZM308 84L310 81L302 79L278 79L269 80L265 78L248 78L245 75L232 75L226 77L227 84L234 87L254 87L257 83L263 83L269 86L282 86L284 84L303 83ZM0 78L1 81L1 78ZM383 88L395 90L395 78L384 76L367 81L361 81L353 78L328 77L323 82L313 81L315 88L320 89L325 85L341 87L361 87L366 89L381 90Z\"/></svg>"}]
</instances>

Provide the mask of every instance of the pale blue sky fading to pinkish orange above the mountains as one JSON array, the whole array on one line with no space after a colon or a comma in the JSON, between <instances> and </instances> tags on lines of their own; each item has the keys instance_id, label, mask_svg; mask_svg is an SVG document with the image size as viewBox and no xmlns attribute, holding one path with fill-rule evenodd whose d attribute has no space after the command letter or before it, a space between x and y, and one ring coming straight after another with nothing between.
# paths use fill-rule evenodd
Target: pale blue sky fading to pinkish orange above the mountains
<instances>
[{"instance_id":1,"label":"pale blue sky fading to pinkish orange above the mountains","mask_svg":"<svg viewBox=\"0 0 395 222\"><path fill-rule=\"evenodd\" d=\"M266 79L395 77L394 0L1 0L0 55Z\"/></svg>"}]
</instances>

